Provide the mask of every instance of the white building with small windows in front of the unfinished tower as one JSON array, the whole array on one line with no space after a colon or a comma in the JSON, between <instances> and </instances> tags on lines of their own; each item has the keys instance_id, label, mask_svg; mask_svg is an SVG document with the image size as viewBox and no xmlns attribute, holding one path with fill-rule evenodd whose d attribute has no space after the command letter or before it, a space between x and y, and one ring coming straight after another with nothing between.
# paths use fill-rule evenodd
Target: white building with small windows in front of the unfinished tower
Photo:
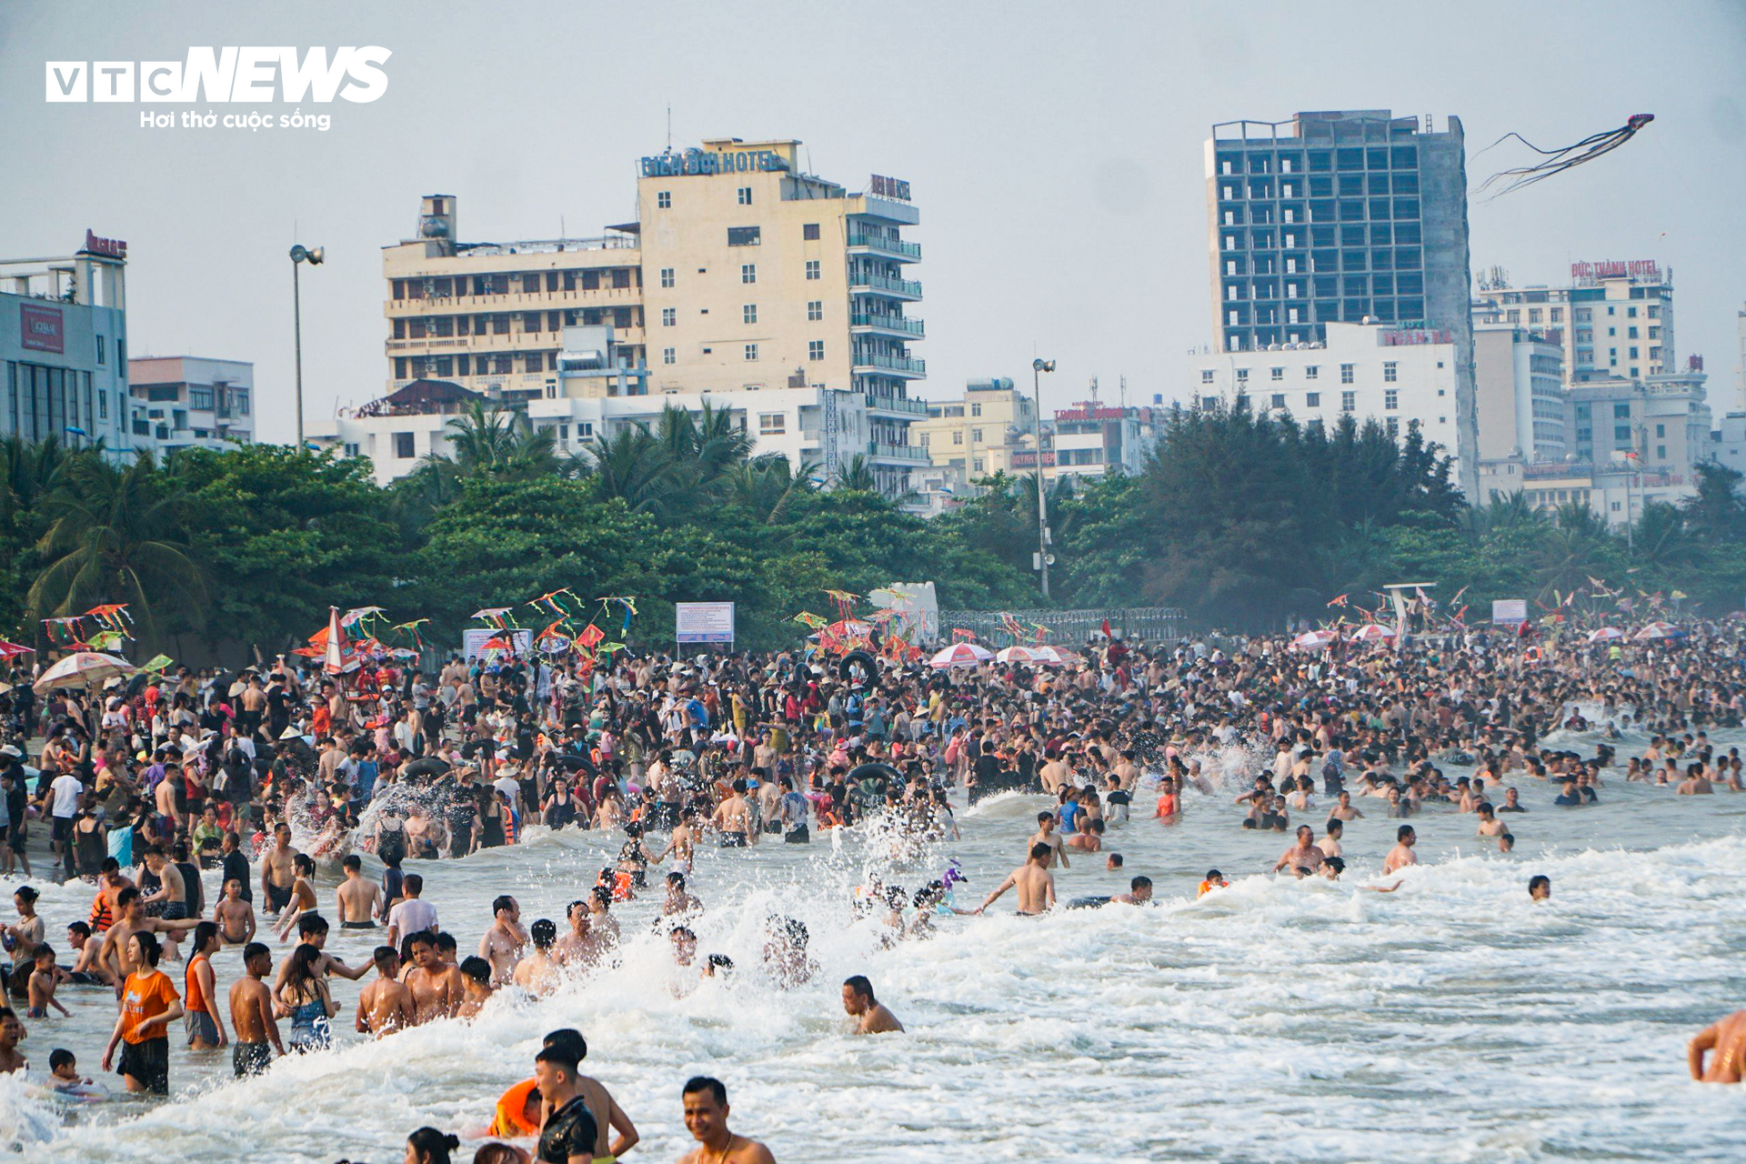
<instances>
[{"instance_id":1,"label":"white building with small windows in front of the unfinished tower","mask_svg":"<svg viewBox=\"0 0 1746 1164\"><path fill-rule=\"evenodd\" d=\"M1327 323L1327 342L1266 351L1194 353L1189 386L1196 403L1247 396L1257 412L1290 414L1330 429L1341 415L1378 421L1393 436L1418 422L1425 440L1454 457L1451 473L1467 496L1479 489L1479 433L1456 412L1456 342L1446 328Z\"/></svg>"}]
</instances>

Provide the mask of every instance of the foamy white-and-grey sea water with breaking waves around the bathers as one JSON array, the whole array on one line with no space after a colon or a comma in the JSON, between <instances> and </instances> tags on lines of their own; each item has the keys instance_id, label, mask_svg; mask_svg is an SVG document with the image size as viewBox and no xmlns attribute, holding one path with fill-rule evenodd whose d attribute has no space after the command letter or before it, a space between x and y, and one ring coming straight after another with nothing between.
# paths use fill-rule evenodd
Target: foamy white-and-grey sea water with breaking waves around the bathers
<instances>
[{"instance_id":1,"label":"foamy white-and-grey sea water with breaking waves around the bathers","mask_svg":"<svg viewBox=\"0 0 1746 1164\"><path fill-rule=\"evenodd\" d=\"M1716 742L1746 738L1729 736ZM1592 754L1596 740L1566 747ZM1620 747L1636 750L1641 740ZM969 878L959 906L980 904L1021 864L1048 806L1037 796L960 805L962 839L918 855L876 829L704 848L691 888L705 913L691 928L700 962L733 958L725 981L679 972L653 932L656 866L651 888L613 909L618 963L553 996L499 995L473 1023L370 1040L351 1031L368 979L335 981L339 1045L243 1082L229 1049L189 1052L178 1023L171 1099L61 1108L0 1078L0 1145L65 1161L389 1162L431 1124L468 1140L466 1159L501 1091L531 1073L540 1037L574 1026L585 1070L643 1133L632 1161L690 1147L679 1087L698 1073L726 1082L735 1131L784 1164L1739 1159L1746 1091L1692 1084L1685 1042L1746 1005L1746 796L1680 798L1610 771L1598 806L1561 810L1552 787L1516 778L1529 811L1503 818L1514 853L1475 838L1475 817L1432 808L1413 818L1423 864L1376 894L1365 887L1397 880L1381 876L1399 824L1383 801L1357 798L1367 815L1346 825L1341 881L1268 876L1290 836L1238 827L1243 773L1226 768L1208 764L1226 778L1217 794L1189 792L1179 824L1147 818L1142 782L1133 820L1105 836L1123 871L1090 853L1056 871L1063 902L1147 874L1151 907L1018 918L1009 894L986 916L939 918L931 941L889 946L876 920L856 918L854 890L871 876L913 894L950 859ZM1292 824L1320 834L1325 811ZM409 869L466 955L503 892L524 925L552 918L562 932L566 904L615 853L616 839L536 827L513 848ZM1196 900L1213 866L1233 885ZM1552 878L1549 902L1528 899L1536 873ZM332 878L323 869L325 911ZM91 888L33 883L65 949ZM210 873L208 900L217 890ZM761 970L775 914L812 932L819 972L796 989ZM377 941L335 928L328 949L358 965ZM239 953L213 962L223 995ZM180 989L182 963L166 969ZM871 977L908 1033L850 1033L850 974ZM110 996L63 988L61 1000L72 1019L28 1023L33 1070L70 1047L101 1077Z\"/></svg>"}]
</instances>

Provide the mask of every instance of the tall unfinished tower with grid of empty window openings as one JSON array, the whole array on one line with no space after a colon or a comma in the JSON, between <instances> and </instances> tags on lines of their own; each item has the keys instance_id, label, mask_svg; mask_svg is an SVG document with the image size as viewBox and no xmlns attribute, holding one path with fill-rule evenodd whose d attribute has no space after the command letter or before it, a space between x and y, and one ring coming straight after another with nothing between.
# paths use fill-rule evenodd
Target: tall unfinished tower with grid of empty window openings
<instances>
[{"instance_id":1,"label":"tall unfinished tower with grid of empty window openings","mask_svg":"<svg viewBox=\"0 0 1746 1164\"><path fill-rule=\"evenodd\" d=\"M1234 120L1205 147L1222 353L1325 344L1329 323L1447 330L1454 428L1477 442L1461 122L1390 110ZM1475 496L1477 480L1463 489Z\"/></svg>"}]
</instances>

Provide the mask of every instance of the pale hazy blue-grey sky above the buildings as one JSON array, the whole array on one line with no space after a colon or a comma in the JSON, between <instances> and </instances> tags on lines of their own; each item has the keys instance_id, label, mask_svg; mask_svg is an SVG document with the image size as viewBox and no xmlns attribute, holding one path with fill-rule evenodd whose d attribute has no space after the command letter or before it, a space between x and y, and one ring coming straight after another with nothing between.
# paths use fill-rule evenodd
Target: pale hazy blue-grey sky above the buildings
<instances>
[{"instance_id":1,"label":"pale hazy blue-grey sky above the buildings","mask_svg":"<svg viewBox=\"0 0 1746 1164\"><path fill-rule=\"evenodd\" d=\"M143 105L49 105L44 61L182 59L189 45L393 51L327 133L141 129ZM1456 113L1470 155L1655 124L1605 161L1472 204L1475 269L1557 281L1571 260L1674 269L1680 356L1736 400L1746 298L1746 10L1690 3L65 3L0 7L0 255L129 244L133 354L255 363L258 435L292 433L297 236L307 412L382 393L381 255L421 194L461 237L573 236L634 215L636 159L712 136L794 136L861 188L911 181L931 379L1058 359L1046 407L1184 387L1212 339L1201 141L1296 110ZM161 106L182 108L182 106ZM197 105L196 108L206 108ZM217 106L218 112L237 106ZM262 106L290 112L290 106ZM313 108L313 106L306 106ZM1468 164L1477 185L1526 152Z\"/></svg>"}]
</instances>

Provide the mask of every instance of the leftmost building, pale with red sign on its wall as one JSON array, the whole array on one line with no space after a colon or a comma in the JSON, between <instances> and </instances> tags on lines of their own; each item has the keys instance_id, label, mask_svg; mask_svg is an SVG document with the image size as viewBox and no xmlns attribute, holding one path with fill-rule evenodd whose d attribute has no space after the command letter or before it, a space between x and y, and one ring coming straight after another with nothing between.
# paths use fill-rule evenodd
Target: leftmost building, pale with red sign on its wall
<instances>
[{"instance_id":1,"label":"leftmost building, pale with red sign on its wall","mask_svg":"<svg viewBox=\"0 0 1746 1164\"><path fill-rule=\"evenodd\" d=\"M86 230L72 255L0 260L0 438L133 448L127 244Z\"/></svg>"}]
</instances>

